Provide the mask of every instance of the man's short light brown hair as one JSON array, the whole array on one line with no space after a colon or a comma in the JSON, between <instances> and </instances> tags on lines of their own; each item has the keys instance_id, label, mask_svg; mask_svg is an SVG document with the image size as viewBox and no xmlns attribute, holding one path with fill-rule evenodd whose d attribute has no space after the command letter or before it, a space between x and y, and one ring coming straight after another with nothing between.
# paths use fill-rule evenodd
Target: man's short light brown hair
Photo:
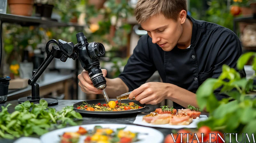
<instances>
[{"instance_id":1,"label":"man's short light brown hair","mask_svg":"<svg viewBox=\"0 0 256 143\"><path fill-rule=\"evenodd\" d=\"M187 0L138 0L135 7L135 17L139 24L160 13L167 19L177 21L182 10L188 12Z\"/></svg>"}]
</instances>

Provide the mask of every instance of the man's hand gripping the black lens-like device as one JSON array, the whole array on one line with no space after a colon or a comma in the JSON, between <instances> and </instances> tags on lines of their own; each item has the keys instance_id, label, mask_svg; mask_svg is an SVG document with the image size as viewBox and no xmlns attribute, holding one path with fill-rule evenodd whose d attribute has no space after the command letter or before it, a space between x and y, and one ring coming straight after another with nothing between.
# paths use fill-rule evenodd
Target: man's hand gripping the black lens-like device
<instances>
[{"instance_id":1,"label":"man's hand gripping the black lens-like device","mask_svg":"<svg viewBox=\"0 0 256 143\"><path fill-rule=\"evenodd\" d=\"M106 77L107 70L101 69L103 76ZM90 79L90 76L88 75L88 72L83 70L81 74L77 76L77 78L80 80L78 85L81 87L82 91L89 94L101 94L101 90L97 90L96 87L93 86L92 80Z\"/></svg>"}]
</instances>

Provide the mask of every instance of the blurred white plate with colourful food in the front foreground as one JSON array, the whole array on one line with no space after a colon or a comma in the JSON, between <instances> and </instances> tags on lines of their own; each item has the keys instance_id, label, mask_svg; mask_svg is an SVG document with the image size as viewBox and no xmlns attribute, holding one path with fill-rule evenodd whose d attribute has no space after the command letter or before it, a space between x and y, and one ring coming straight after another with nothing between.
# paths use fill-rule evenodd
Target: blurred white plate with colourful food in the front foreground
<instances>
[{"instance_id":1,"label":"blurred white plate with colourful food in the front foreground","mask_svg":"<svg viewBox=\"0 0 256 143\"><path fill-rule=\"evenodd\" d=\"M48 132L42 143L161 143L164 135L156 129L129 124L87 124Z\"/></svg>"}]
</instances>

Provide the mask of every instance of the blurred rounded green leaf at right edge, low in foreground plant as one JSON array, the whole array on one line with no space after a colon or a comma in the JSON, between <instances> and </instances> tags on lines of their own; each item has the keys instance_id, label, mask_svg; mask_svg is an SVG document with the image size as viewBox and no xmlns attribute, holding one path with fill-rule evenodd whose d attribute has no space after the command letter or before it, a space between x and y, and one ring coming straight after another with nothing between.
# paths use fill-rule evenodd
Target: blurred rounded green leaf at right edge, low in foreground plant
<instances>
[{"instance_id":1,"label":"blurred rounded green leaf at right edge, low in foreground plant","mask_svg":"<svg viewBox=\"0 0 256 143\"><path fill-rule=\"evenodd\" d=\"M246 107L246 108L242 109L241 111L242 112L241 112L240 120L243 124L247 124L247 123L251 122L252 120L255 120L254 118L256 117L256 109Z\"/></svg>"}]
</instances>

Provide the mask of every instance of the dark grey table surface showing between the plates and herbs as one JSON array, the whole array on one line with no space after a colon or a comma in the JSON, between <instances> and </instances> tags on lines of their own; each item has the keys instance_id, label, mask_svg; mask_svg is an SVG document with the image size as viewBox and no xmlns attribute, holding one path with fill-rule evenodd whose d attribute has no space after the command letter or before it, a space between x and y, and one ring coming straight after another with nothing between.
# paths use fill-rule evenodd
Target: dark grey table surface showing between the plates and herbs
<instances>
[{"instance_id":1,"label":"dark grey table surface showing between the plates and herbs","mask_svg":"<svg viewBox=\"0 0 256 143\"><path fill-rule=\"evenodd\" d=\"M80 102L83 100L58 100L59 104L55 106L50 106L51 108L55 108L57 111L61 110L63 107L71 106L76 102ZM0 104L0 106L7 106L9 103L12 105L8 107L8 112L12 113L14 111L14 107L18 105L18 100L8 101L5 103ZM159 107L158 107L159 108ZM152 110L152 109L150 109ZM0 108L0 112L2 109ZM208 115L208 113L202 112L201 115ZM133 121L135 120L137 114L135 115L129 115L128 117L88 117L83 116L83 121L78 122L79 125L81 124L133 124ZM134 125L134 124L133 124ZM170 133L172 133L172 130L179 130L179 129L165 129L165 128L157 128L154 127L154 129L160 131L163 133L164 137ZM35 136L33 136L35 137ZM39 137L37 137L39 138ZM10 139L0 139L0 143L12 143L15 140Z\"/></svg>"}]
</instances>

